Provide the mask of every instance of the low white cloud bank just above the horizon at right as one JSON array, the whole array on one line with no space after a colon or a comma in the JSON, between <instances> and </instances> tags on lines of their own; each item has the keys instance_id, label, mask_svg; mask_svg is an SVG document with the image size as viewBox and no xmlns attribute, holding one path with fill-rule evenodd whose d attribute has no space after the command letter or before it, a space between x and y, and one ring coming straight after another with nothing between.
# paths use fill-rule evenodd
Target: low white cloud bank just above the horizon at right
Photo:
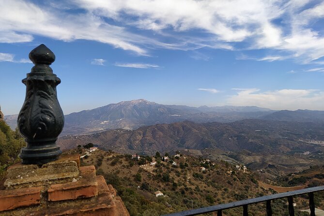
<instances>
[{"instance_id":1,"label":"low white cloud bank just above the horizon at right","mask_svg":"<svg viewBox=\"0 0 324 216\"><path fill-rule=\"evenodd\" d=\"M259 89L233 89L227 103L233 106L258 106L279 109L324 109L324 92L319 90L282 89L262 92Z\"/></svg>"}]
</instances>

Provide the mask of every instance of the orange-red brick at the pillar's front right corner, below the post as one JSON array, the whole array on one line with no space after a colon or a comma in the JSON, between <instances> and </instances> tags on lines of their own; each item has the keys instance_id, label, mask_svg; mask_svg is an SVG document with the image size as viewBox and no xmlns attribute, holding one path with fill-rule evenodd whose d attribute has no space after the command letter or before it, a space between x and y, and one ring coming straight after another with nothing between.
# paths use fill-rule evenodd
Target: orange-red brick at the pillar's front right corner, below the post
<instances>
[{"instance_id":1,"label":"orange-red brick at the pillar's front right corner, below the post","mask_svg":"<svg viewBox=\"0 0 324 216\"><path fill-rule=\"evenodd\" d=\"M80 167L82 176L76 182L51 185L47 190L48 201L75 200L98 195L94 166Z\"/></svg>"}]
</instances>

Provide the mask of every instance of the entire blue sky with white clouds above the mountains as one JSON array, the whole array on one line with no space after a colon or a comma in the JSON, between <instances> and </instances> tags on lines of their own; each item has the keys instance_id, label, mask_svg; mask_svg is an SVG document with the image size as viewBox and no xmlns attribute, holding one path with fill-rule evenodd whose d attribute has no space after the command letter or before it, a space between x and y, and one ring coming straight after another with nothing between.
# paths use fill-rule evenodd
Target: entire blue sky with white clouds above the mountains
<instances>
[{"instance_id":1,"label":"entire blue sky with white clouds above the mountains","mask_svg":"<svg viewBox=\"0 0 324 216\"><path fill-rule=\"evenodd\" d=\"M144 98L324 110L319 0L0 0L0 105L17 114L45 44L64 114Z\"/></svg>"}]
</instances>

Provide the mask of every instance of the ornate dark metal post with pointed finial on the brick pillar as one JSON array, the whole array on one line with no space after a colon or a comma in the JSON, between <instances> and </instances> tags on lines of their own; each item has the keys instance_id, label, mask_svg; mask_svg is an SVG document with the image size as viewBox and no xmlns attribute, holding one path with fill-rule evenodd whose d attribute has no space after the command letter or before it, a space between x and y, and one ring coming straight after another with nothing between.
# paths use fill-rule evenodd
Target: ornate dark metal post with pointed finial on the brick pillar
<instances>
[{"instance_id":1,"label":"ornate dark metal post with pointed finial on the brick pillar","mask_svg":"<svg viewBox=\"0 0 324 216\"><path fill-rule=\"evenodd\" d=\"M64 125L56 93L61 79L49 66L55 61L55 55L44 44L31 50L29 58L35 66L22 80L26 98L18 116L19 131L27 147L21 149L19 157L23 164L45 164L62 154L55 143Z\"/></svg>"}]
</instances>

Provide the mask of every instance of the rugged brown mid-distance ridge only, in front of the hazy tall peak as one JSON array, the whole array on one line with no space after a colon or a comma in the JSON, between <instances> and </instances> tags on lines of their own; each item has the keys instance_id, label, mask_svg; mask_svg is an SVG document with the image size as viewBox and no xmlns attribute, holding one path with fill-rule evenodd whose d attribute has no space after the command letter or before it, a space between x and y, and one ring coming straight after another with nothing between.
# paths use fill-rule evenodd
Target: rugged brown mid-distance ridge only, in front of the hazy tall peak
<instances>
[{"instance_id":1,"label":"rugged brown mid-distance ridge only, in front of the hazy tall peak","mask_svg":"<svg viewBox=\"0 0 324 216\"><path fill-rule=\"evenodd\" d=\"M286 153L303 149L315 151L317 145L303 140L324 140L324 124L266 120L241 120L232 123L155 124L136 130L114 129L91 135L63 136L63 149L92 142L102 149L119 153L154 154L174 149L248 150L253 153Z\"/></svg>"}]
</instances>

